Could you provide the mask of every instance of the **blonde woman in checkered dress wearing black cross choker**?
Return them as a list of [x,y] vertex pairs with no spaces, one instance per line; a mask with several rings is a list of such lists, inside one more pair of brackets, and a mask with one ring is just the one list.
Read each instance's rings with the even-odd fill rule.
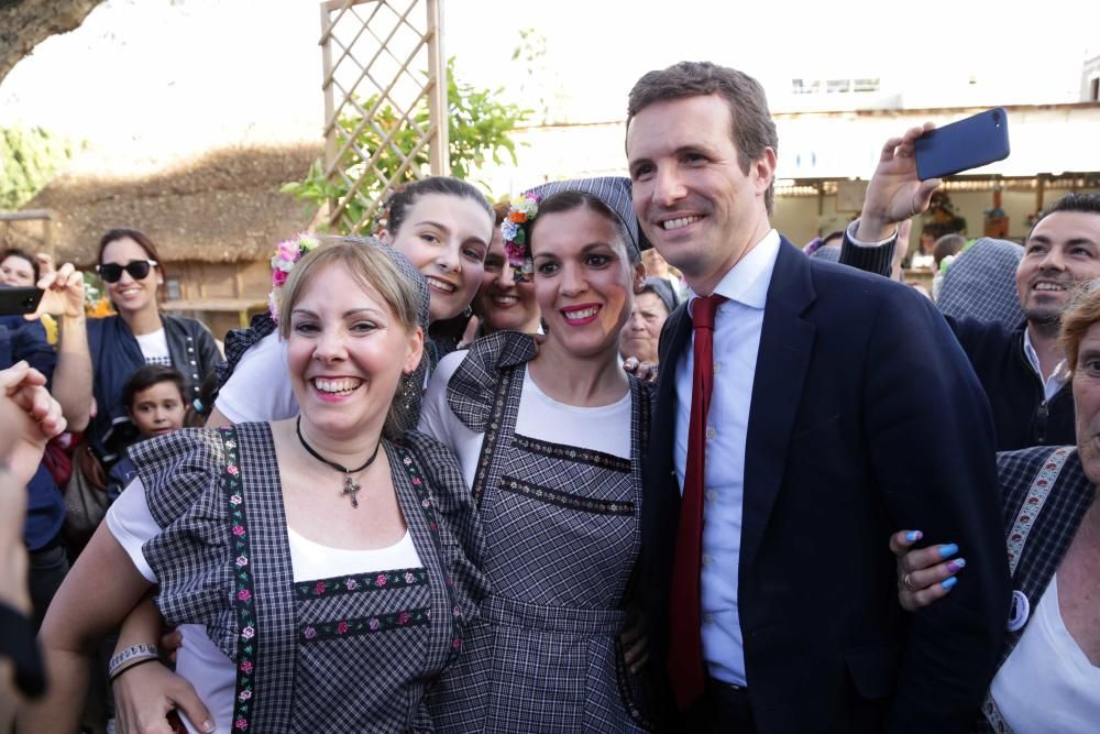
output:
[[[425,688],[486,588],[452,454],[392,419],[427,286],[392,249],[338,241],[301,256],[280,306],[300,415],[131,451],[139,479],[44,623],[52,691],[28,731],[75,728],[81,654],[154,583],[184,635],[177,672],[211,713],[190,731],[431,731]],[[123,657],[116,671],[170,675]]]

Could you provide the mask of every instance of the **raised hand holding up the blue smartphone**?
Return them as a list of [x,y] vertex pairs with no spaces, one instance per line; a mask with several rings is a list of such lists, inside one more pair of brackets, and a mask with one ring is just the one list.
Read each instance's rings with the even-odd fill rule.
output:
[[891,138],[882,146],[879,165],[867,186],[856,239],[880,242],[893,234],[894,224],[927,210],[941,180],[916,177],[914,151],[916,139],[933,128],[933,123],[925,122],[901,138]]

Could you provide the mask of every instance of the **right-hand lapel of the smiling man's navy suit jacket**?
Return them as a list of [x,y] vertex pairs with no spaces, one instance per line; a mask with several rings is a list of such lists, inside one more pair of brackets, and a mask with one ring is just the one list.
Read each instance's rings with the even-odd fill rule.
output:
[[782,240],[765,307],[745,445],[741,568],[750,568],[779,494],[787,451],[813,352],[815,327],[802,318],[816,295],[810,260]]

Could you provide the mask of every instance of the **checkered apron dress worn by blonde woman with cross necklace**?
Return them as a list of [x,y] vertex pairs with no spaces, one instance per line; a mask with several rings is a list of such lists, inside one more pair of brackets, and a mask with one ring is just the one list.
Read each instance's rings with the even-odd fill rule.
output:
[[[160,448],[143,443],[146,453],[135,457],[150,479],[150,506],[165,506],[163,499],[178,489],[173,476],[194,478],[187,443],[195,438],[211,489],[193,502],[197,512],[154,513],[165,532],[145,552],[169,623],[208,623],[211,639],[237,666],[233,731],[432,731],[425,687],[458,656],[460,624],[476,606],[460,598],[469,570],[460,571],[459,584],[452,580],[461,548],[441,532],[446,521],[429,491],[439,472],[424,471],[427,462],[446,462],[446,450],[417,437],[384,443],[424,567],[295,582],[267,424],[185,432],[189,441],[172,441],[173,434]],[[191,566],[196,554],[207,562],[221,557],[219,567]],[[204,587],[200,594],[196,585]]]

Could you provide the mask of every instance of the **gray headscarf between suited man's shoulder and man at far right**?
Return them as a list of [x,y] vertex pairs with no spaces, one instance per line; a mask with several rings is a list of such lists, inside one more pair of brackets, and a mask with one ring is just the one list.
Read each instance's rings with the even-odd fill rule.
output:
[[947,316],[1000,321],[1014,329],[1024,322],[1016,296],[1016,266],[1024,249],[983,237],[947,267],[936,306]]

